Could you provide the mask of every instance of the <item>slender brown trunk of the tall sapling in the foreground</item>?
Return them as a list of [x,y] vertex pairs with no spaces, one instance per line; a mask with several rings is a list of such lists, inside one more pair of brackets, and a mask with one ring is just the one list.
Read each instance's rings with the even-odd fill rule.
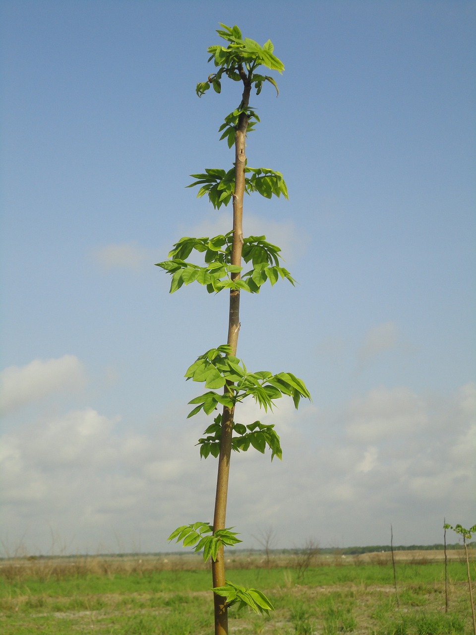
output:
[[[244,90],[241,101],[241,108],[246,110],[249,104],[249,93],[251,91],[250,78],[253,69],[246,75],[242,65],[239,65],[238,72],[244,84]],[[241,266],[241,252],[243,246],[243,197],[245,190],[245,171],[246,154],[245,139],[246,128],[248,128],[248,116],[246,112],[242,112],[237,124],[235,133],[235,192],[233,194],[233,242],[231,264]],[[232,279],[239,278],[240,274],[232,273]],[[240,292],[239,290],[230,290],[230,309],[228,312],[228,340],[230,346],[230,354],[236,355],[238,335],[240,330]],[[233,383],[227,382],[224,388],[225,394],[233,394]],[[235,408],[223,407],[223,415],[221,416],[221,440],[220,440],[220,456],[218,457],[218,475],[216,478],[216,498],[215,498],[215,515],[213,517],[213,533],[219,529],[225,529],[227,516],[227,495],[228,495],[228,476],[230,474],[230,455],[232,452],[232,434],[233,434],[233,418]],[[211,571],[213,576],[213,587],[225,586],[225,559],[223,557],[223,545],[220,545],[216,560],[211,563]],[[214,594],[215,602],[215,635],[228,635],[228,605],[227,599]]]

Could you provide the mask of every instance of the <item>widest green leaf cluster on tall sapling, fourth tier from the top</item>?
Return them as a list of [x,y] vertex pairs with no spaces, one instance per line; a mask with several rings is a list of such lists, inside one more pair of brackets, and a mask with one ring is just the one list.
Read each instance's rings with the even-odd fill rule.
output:
[[[222,289],[244,290],[259,293],[261,286],[270,281],[273,286],[281,277],[291,284],[295,283],[289,271],[281,267],[279,247],[266,241],[266,236],[249,236],[243,239],[242,258],[253,269],[242,272],[242,267],[230,264],[232,253],[232,234],[221,234],[209,238],[182,237],[169,251],[169,260],[157,262],[171,274],[170,293],[183,286],[197,282],[206,286],[208,293],[218,293]],[[195,250],[204,253],[205,266],[187,262],[190,253]],[[238,275],[239,274],[239,275]]]

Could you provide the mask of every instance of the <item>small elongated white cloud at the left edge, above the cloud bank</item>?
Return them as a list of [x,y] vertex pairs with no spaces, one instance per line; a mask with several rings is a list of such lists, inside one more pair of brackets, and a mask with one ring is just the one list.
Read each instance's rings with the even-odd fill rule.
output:
[[75,355],[47,361],[34,359],[22,367],[9,366],[0,373],[0,413],[9,413],[55,392],[79,391],[85,383],[83,364]]

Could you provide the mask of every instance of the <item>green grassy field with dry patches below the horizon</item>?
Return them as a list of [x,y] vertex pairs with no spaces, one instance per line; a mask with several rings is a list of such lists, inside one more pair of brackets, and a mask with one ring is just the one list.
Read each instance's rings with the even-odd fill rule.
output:
[[[366,554],[368,556],[368,554]],[[384,557],[385,556],[385,557]],[[248,558],[248,559],[247,559]],[[251,558],[251,561],[250,559]],[[255,558],[255,561],[253,561]],[[228,577],[264,591],[270,618],[229,612],[230,633],[264,635],[465,635],[472,632],[465,564],[444,566],[399,554],[398,605],[387,554],[336,558],[304,571],[249,568],[237,556]],[[241,561],[240,561],[241,560]],[[459,560],[459,558],[458,558]],[[283,564],[278,561],[277,565]],[[213,632],[209,571],[199,559],[39,559],[0,564],[0,632],[70,635],[205,635]]]

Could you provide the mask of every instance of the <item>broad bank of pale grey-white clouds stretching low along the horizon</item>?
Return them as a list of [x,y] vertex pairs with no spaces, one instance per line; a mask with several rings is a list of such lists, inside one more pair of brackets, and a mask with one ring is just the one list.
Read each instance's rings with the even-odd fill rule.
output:
[[[474,384],[449,398],[376,389],[333,415],[282,399],[260,419],[276,424],[283,460],[232,455],[228,525],[245,546],[260,526],[283,547],[386,544],[390,523],[399,544],[437,542],[442,518],[459,521],[476,491],[475,397]],[[213,514],[216,461],[195,446],[209,419],[186,415],[138,434],[86,408],[4,434],[0,538],[24,534],[47,552],[51,527],[72,551],[115,551],[116,536],[126,550],[168,549],[176,526]],[[256,417],[240,406],[239,422]]]

